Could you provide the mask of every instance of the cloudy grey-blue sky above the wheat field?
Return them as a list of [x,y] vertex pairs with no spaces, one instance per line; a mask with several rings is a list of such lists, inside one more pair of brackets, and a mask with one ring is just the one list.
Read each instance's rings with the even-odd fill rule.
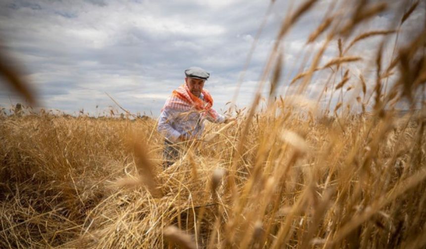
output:
[[[134,114],[158,116],[171,91],[184,83],[184,70],[198,66],[211,73],[205,88],[213,96],[213,108],[223,113],[262,21],[266,25],[236,100],[241,108],[252,102],[283,18],[300,2],[275,0],[268,11],[272,3],[266,0],[2,0],[0,46],[13,58],[11,65],[23,68],[23,75],[47,109],[69,114],[84,109],[101,115],[117,109],[108,93]],[[320,47],[323,36],[311,46],[305,43],[330,2],[320,0],[285,37],[285,74],[279,92],[285,91],[300,69],[302,55]],[[388,2],[398,6],[397,0]],[[347,12],[350,14],[350,8]],[[422,1],[404,24],[403,34],[415,32],[424,23],[424,13]],[[379,14],[362,28],[383,30],[392,17],[387,12]],[[404,42],[404,35],[401,37],[399,42]],[[388,41],[394,39],[387,37]],[[351,48],[351,53],[371,56],[380,41],[368,39]],[[335,43],[327,48],[323,60],[337,52]],[[369,67],[354,64],[351,72]],[[308,91],[318,93],[324,82],[318,75]],[[0,107],[25,101],[1,78],[0,88]]]

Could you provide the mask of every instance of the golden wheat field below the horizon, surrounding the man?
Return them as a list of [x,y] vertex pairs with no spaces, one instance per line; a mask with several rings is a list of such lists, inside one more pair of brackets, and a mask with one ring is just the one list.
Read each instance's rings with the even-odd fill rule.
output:
[[410,115],[258,114],[238,148],[241,116],[166,170],[151,119],[3,117],[0,247],[423,247],[425,119]]

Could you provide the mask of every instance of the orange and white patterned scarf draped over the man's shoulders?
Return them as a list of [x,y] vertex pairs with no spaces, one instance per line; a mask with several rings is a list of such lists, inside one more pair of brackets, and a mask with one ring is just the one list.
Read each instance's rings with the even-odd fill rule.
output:
[[217,113],[212,111],[213,98],[210,93],[203,89],[204,101],[191,93],[186,84],[182,84],[173,90],[171,95],[165,101],[161,112],[166,109],[175,109],[182,112],[190,112],[194,109],[199,111],[203,117],[209,114],[213,119],[217,118]]

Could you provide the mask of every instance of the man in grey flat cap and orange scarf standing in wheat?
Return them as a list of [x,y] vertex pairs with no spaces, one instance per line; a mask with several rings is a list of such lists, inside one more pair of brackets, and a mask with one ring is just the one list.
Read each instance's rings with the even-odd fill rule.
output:
[[235,119],[225,118],[213,108],[213,98],[203,89],[210,73],[199,67],[185,70],[185,84],[175,89],[161,109],[158,131],[165,136],[164,167],[179,157],[178,143],[201,136],[204,120],[228,123]]

